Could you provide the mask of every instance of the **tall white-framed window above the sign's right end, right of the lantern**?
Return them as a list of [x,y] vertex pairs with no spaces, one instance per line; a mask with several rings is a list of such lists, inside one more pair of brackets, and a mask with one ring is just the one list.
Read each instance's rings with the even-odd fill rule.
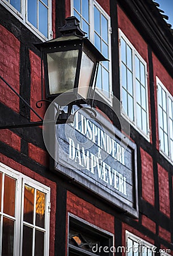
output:
[[120,31],[121,113],[149,140],[146,63]]

